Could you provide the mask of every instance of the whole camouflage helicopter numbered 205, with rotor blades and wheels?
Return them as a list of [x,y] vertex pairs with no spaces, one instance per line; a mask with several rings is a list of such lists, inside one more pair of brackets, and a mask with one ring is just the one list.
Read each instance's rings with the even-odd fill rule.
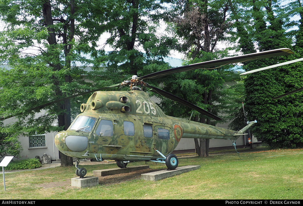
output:
[[[129,162],[151,161],[164,163],[168,170],[174,170],[178,167],[178,158],[171,152],[174,151],[181,138],[235,141],[246,135],[244,132],[257,121],[248,121],[240,131],[233,131],[191,121],[191,117],[189,120],[185,120],[167,116],[151,100],[148,93],[142,90],[143,87],[150,88],[150,91],[186,105],[210,118],[221,120],[218,116],[184,99],[149,85],[143,81],[144,79],[159,78],[192,69],[211,69],[226,64],[291,54],[294,52],[290,49],[281,48],[205,61],[158,71],[142,77],[133,75],[130,80],[122,83],[78,94],[92,93],[87,102],[81,104],[81,113],[70,127],[66,131],[58,132],[55,136],[55,145],[63,154],[78,158],[75,173],[80,178],[84,178],[86,175],[86,169],[79,167],[80,158],[91,158],[92,161],[115,160],[119,168],[125,168]],[[102,91],[118,86],[129,86],[130,90]],[[66,98],[58,101],[64,99]]]

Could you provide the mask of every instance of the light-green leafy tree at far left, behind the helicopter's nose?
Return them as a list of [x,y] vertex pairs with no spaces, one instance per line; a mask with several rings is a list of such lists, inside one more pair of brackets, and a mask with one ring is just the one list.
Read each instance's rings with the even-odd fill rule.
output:
[[[16,117],[5,132],[44,133],[69,127],[72,110],[78,107],[81,97],[49,105],[39,117],[36,113],[41,109],[29,110],[93,86],[81,77],[89,75],[76,67],[77,61],[83,66],[91,62],[80,54],[94,51],[94,42],[99,38],[82,26],[82,16],[90,5],[76,0],[0,2],[0,16],[5,23],[0,35],[0,62],[11,67],[0,71],[0,113]],[[90,20],[85,22],[93,24]],[[51,125],[55,120],[58,127]],[[60,157],[62,166],[73,164],[72,158],[64,154]]]

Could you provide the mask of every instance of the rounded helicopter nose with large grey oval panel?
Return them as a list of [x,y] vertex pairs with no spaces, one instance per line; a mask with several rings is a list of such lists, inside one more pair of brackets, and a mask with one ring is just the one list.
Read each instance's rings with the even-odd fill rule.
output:
[[84,151],[88,145],[88,138],[85,136],[68,135],[66,131],[59,132],[55,136],[55,145],[60,151]]

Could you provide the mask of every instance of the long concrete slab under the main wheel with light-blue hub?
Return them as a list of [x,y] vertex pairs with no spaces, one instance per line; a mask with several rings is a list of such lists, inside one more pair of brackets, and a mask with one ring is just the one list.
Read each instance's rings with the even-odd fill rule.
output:
[[197,165],[197,166],[189,165],[189,166],[178,167],[175,170],[161,170],[161,171],[145,173],[145,174],[141,174],[141,179],[150,180],[150,181],[157,181],[157,180],[161,180],[161,179],[164,179],[164,178],[169,178],[169,177],[172,177],[172,176],[175,176],[175,175],[178,175],[178,174],[182,174],[184,172],[197,170],[200,167],[201,167],[200,165]]

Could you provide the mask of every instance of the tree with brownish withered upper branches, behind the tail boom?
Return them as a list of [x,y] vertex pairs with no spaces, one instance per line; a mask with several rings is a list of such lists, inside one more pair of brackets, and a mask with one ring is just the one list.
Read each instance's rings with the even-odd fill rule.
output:
[[[231,28],[232,19],[228,17],[228,13],[231,10],[232,2],[208,0],[179,2],[180,4],[175,8],[177,15],[172,14],[168,17],[168,21],[174,23],[177,35],[184,42],[180,51],[188,54],[188,59],[191,59],[188,63],[225,57],[226,50],[219,51],[217,45],[220,41],[228,40],[225,34]],[[185,93],[181,93],[182,98],[218,114],[220,112],[218,108],[222,105],[216,105],[216,103],[222,101],[223,84],[228,77],[235,78],[234,74],[226,69],[229,70],[229,67],[225,66],[211,71],[187,72],[186,80],[178,78],[177,81],[187,86],[191,85],[191,89],[194,88],[191,91],[195,91],[196,96],[192,97],[193,94],[185,91]],[[170,85],[166,88],[174,87]],[[210,118],[195,113],[194,121],[198,121],[198,119],[201,123],[215,124],[215,122],[211,122]],[[199,156],[208,156],[208,145],[209,139],[200,139],[200,143],[195,139],[195,148]]]

